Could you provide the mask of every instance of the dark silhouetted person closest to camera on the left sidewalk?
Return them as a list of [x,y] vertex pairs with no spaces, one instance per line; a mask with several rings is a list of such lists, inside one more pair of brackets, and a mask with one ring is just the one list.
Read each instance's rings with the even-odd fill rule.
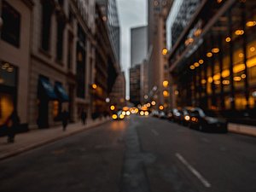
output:
[[15,134],[20,126],[20,118],[16,110],[10,114],[5,124],[7,125],[7,142],[15,143]]

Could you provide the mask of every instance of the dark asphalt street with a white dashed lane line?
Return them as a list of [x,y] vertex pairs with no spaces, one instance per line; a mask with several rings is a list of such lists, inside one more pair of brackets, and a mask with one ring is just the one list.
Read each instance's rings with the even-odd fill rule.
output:
[[0,161],[0,191],[254,192],[255,145],[131,116]]

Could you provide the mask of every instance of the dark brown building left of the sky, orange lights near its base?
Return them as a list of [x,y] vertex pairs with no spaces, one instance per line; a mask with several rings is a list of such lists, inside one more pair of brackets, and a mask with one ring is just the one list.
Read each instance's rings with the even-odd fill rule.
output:
[[113,85],[119,74],[119,62],[115,61],[107,23],[103,20],[102,11],[96,3],[96,61],[93,67],[92,82],[90,86],[91,113],[93,119],[109,113],[106,99],[111,95]]

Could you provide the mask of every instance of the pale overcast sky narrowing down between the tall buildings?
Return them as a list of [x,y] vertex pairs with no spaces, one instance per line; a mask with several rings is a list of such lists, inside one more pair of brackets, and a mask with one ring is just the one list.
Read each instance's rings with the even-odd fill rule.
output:
[[131,28],[147,25],[146,0],[116,0],[121,27],[121,67],[125,71],[126,96],[129,96],[128,70],[131,66]]

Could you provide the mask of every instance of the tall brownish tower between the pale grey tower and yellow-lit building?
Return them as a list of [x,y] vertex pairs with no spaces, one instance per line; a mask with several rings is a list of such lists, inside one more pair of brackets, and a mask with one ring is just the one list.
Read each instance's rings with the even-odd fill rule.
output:
[[168,73],[162,49],[166,48],[166,18],[171,6],[172,0],[148,0],[148,90],[157,88],[156,107],[166,104],[162,83]]

